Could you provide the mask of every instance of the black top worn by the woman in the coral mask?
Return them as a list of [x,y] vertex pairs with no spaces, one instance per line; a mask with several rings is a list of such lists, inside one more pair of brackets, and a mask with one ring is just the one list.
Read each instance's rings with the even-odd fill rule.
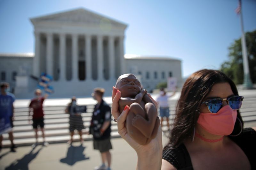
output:
[[[239,136],[228,137],[244,151],[249,159],[251,168],[256,169],[256,131],[252,128],[245,128]],[[168,146],[164,147],[163,159],[170,162],[176,169],[193,169],[188,150],[184,144],[180,144],[180,146],[174,149]]]

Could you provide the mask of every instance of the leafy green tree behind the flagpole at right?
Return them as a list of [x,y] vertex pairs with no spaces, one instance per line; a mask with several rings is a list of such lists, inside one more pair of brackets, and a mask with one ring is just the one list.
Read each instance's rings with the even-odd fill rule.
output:
[[[256,83],[256,30],[245,33],[247,57],[252,83]],[[243,84],[243,56],[241,38],[235,40],[228,48],[228,61],[221,64],[221,71],[230,77],[236,84]]]

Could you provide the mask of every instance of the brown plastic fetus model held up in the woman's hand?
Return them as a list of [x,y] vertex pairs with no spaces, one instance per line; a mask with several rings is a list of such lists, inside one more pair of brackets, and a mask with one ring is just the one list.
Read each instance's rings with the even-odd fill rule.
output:
[[133,74],[123,74],[116,81],[121,91],[120,113],[126,105],[130,111],[126,119],[128,134],[139,144],[146,145],[156,137],[160,124],[157,109],[146,90],[141,90],[140,81]]

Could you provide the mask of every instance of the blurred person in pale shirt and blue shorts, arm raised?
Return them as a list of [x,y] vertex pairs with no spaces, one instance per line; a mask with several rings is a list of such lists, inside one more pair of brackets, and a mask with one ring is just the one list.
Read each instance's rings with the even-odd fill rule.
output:
[[164,91],[164,88],[161,89],[159,96],[156,98],[157,105],[159,107],[160,117],[161,117],[161,126],[163,127],[163,121],[164,118],[167,122],[167,127],[169,129],[169,116],[170,116],[170,110],[169,110],[169,103],[168,99],[175,95],[174,91],[172,95],[167,95]]

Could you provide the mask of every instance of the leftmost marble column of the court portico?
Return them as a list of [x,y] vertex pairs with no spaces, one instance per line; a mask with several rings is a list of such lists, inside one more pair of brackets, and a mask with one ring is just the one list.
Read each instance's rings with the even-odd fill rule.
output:
[[33,58],[33,75],[40,77],[40,46],[41,46],[41,34],[35,32],[35,56]]

